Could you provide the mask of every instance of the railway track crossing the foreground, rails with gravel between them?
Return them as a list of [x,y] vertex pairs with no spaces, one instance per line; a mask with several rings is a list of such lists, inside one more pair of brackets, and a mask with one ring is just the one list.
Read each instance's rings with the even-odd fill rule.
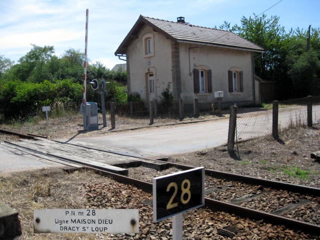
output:
[[[24,136],[20,135],[20,137]],[[37,139],[37,141],[39,141],[38,136],[28,135],[28,138]],[[6,142],[6,144],[32,151],[32,149],[26,145],[21,147],[14,142]],[[63,146],[65,146],[65,143]],[[88,151],[107,151],[105,149],[97,149],[97,147],[93,145],[82,145],[81,147],[86,148]],[[49,152],[43,153],[33,150],[33,153],[52,157],[52,154]],[[137,158],[140,157],[141,159],[147,159],[147,156],[141,156],[136,153],[114,151],[110,151],[109,153],[121,157],[134,156]],[[65,162],[66,165],[75,163],[68,157],[54,157],[61,162]],[[171,172],[192,168],[192,166],[163,162],[154,158],[149,160],[158,161],[159,164],[163,163],[164,166],[159,167],[152,164],[142,165],[140,163],[135,163],[134,167],[132,167],[132,165],[123,163],[121,167],[128,168],[129,176],[130,169],[136,169],[137,167],[139,168],[138,171],[140,172],[140,175],[143,175],[143,170],[148,167],[159,167],[157,169],[158,175],[163,175],[163,173],[159,171],[162,170],[161,168],[169,168]],[[82,165],[78,161],[76,164],[79,165],[77,167]],[[133,184],[146,192],[152,192],[152,178],[140,180],[126,176],[126,174],[123,175],[112,172],[110,169],[107,169],[107,167],[103,168],[92,164],[89,166],[88,164],[83,164],[82,166],[94,169],[102,175],[111,176],[121,183]],[[205,207],[214,211],[234,213],[241,217],[248,217],[255,220],[263,219],[272,224],[285,225],[292,229],[301,229],[307,233],[318,234],[318,232],[320,232],[320,217],[318,210],[320,208],[320,188],[271,181],[210,169],[205,169],[205,174]],[[152,202],[145,201],[144,204],[150,205]],[[228,228],[226,232],[232,231],[232,229],[234,232],[237,230],[234,226],[233,228]]]

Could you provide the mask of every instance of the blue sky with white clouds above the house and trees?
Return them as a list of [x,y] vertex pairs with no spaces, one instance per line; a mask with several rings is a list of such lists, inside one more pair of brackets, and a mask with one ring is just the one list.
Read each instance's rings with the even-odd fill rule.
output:
[[15,62],[31,49],[53,45],[60,56],[69,48],[84,52],[85,10],[89,9],[87,56],[112,68],[114,51],[139,15],[198,26],[240,24],[242,16],[265,11],[279,16],[286,31],[320,27],[320,0],[0,0],[0,55]]

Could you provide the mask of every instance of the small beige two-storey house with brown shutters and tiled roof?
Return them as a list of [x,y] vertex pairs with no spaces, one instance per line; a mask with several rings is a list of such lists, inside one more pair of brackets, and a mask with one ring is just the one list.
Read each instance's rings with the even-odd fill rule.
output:
[[[170,84],[174,100],[197,97],[199,105],[257,103],[254,52],[264,49],[230,32],[140,15],[115,51],[126,57],[128,93],[147,103]],[[146,104],[148,105],[148,104]]]

